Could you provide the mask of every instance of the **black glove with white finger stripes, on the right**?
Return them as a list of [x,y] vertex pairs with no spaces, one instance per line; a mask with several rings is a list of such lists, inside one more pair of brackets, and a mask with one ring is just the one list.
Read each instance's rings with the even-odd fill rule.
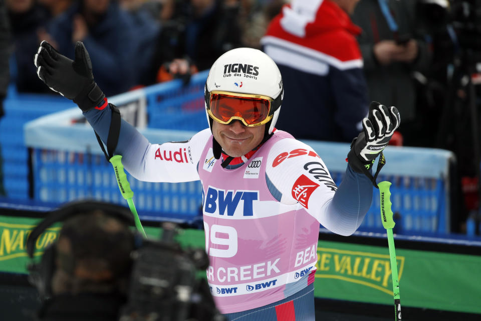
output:
[[[400,122],[401,118],[396,107],[386,107],[377,101],[371,102],[369,114],[362,120],[364,131],[353,139],[351,150],[347,154],[349,165],[355,172],[369,174],[368,177],[372,180],[369,170],[376,157],[389,143]],[[384,159],[380,159],[380,162],[384,165]],[[380,170],[379,167],[378,169]],[[376,186],[375,177],[374,186]]]

